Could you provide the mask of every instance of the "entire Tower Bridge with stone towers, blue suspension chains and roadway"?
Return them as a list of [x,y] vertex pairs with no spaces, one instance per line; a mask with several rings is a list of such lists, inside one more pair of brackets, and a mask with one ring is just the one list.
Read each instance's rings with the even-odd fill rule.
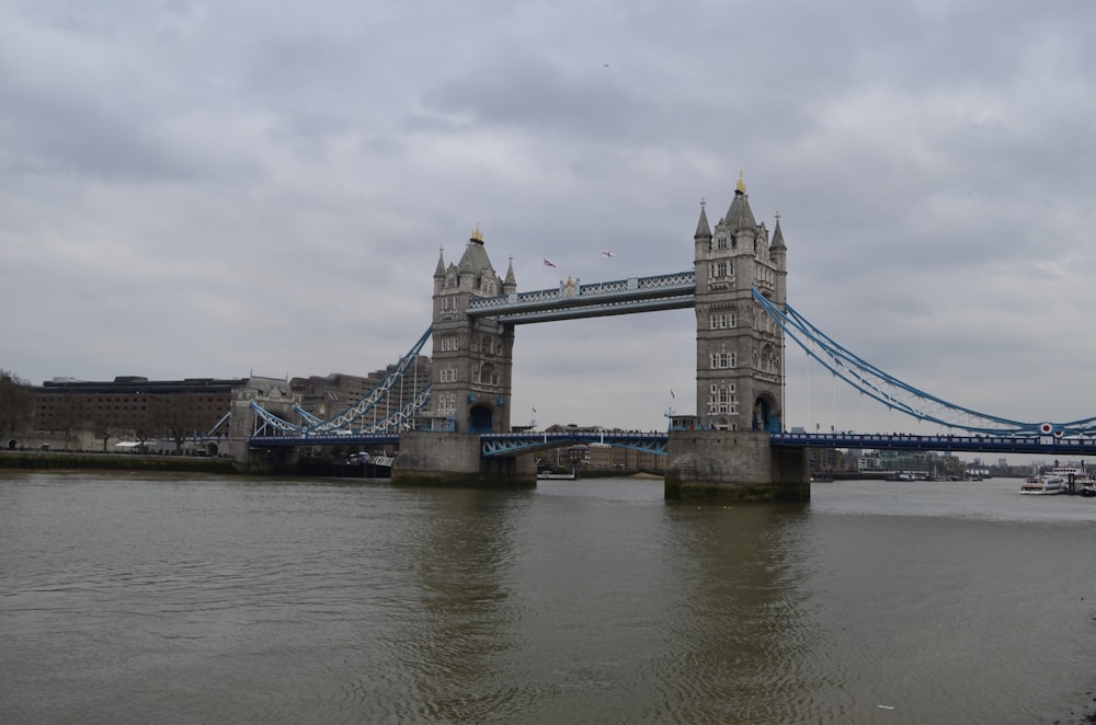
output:
[[[398,440],[396,483],[513,486],[535,485],[537,450],[604,442],[665,454],[667,498],[723,500],[809,498],[809,448],[1096,452],[1096,418],[1032,424],[978,413],[888,376],[813,326],[787,303],[779,215],[772,232],[755,220],[741,175],[715,226],[700,203],[692,242],[690,271],[595,284],[568,278],[558,287],[520,292],[513,260],[500,275],[477,228],[459,261],[446,263],[439,251],[431,326],[369,394],[328,419],[297,408],[299,423],[252,403],[251,446],[270,451]],[[696,318],[694,415],[674,416],[664,434],[512,430],[517,325],[685,308]],[[404,381],[409,360],[427,340],[430,380],[401,395],[395,412],[378,421],[380,402]],[[787,340],[866,396],[956,433],[787,433],[781,421]]]

